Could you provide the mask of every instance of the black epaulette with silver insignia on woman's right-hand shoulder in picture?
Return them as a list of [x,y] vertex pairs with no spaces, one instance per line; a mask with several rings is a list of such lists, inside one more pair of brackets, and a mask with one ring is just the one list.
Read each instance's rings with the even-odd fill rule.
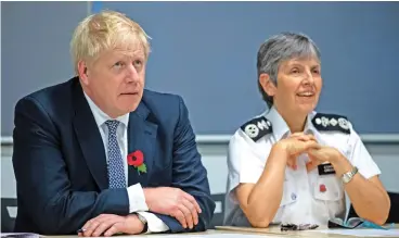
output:
[[342,115],[317,113],[312,123],[318,130],[350,134],[350,123],[347,117]]

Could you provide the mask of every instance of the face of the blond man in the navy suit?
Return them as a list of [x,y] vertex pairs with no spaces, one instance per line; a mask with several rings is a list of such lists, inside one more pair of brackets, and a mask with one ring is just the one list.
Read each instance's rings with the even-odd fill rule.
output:
[[116,48],[86,64],[80,79],[86,93],[111,117],[134,111],[143,96],[146,57],[141,45]]

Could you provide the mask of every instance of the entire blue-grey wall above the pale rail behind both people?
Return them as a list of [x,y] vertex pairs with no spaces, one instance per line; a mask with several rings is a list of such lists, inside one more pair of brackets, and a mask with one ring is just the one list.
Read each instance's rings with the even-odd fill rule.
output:
[[[87,2],[2,3],[2,135],[22,96],[73,75],[68,41]],[[231,134],[265,104],[256,53],[269,36],[304,32],[322,51],[318,110],[362,134],[399,133],[399,2],[93,2],[153,38],[147,88],[183,96],[197,134]],[[29,39],[29,40],[28,40]]]

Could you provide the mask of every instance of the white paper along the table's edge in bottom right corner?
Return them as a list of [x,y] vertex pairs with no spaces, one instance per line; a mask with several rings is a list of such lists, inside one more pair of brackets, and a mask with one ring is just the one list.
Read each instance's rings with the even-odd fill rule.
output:
[[311,231],[356,237],[399,237],[399,229],[316,229]]

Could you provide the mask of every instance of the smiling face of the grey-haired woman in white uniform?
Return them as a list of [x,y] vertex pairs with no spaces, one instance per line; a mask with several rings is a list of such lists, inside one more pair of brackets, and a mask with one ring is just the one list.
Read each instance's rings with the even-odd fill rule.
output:
[[316,58],[292,58],[278,71],[278,84],[269,96],[275,108],[288,114],[304,115],[314,110],[322,88],[320,62]]

